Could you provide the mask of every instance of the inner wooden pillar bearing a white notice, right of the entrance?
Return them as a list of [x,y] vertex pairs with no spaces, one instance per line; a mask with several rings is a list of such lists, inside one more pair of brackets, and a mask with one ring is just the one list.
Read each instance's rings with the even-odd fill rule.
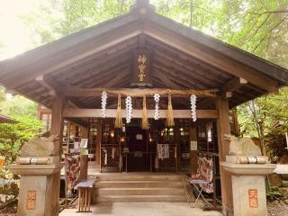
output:
[[197,173],[197,129],[195,126],[190,129],[190,166],[192,173]]

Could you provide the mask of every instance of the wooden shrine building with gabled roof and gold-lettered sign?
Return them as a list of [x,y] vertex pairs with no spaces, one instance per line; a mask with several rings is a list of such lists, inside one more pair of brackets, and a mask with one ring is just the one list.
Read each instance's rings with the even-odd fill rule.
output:
[[[225,161],[229,110],[287,81],[287,69],[175,23],[139,0],[129,14],[0,62],[1,85],[51,110],[50,133],[60,137],[58,155],[67,152],[64,120],[75,122],[89,131],[91,166],[103,172],[196,172],[199,151],[219,153],[220,162]],[[158,120],[155,94],[160,96]],[[196,95],[196,121],[191,94]],[[130,123],[125,120],[127,96]],[[169,102],[174,126],[166,121]],[[114,125],[119,105],[121,129]],[[157,144],[169,144],[170,156],[156,166]],[[126,157],[120,159],[124,150]],[[220,185],[223,212],[228,212],[231,179],[221,167]]]

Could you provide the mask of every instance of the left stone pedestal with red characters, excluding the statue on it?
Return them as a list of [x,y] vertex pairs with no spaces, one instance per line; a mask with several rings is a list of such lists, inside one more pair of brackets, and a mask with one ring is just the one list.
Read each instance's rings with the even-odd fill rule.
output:
[[17,215],[58,215],[60,170],[64,163],[6,166],[21,175]]

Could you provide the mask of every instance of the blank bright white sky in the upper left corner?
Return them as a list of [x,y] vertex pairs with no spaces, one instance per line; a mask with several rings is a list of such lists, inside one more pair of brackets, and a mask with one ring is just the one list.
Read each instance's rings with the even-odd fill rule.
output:
[[32,48],[29,28],[20,16],[46,0],[0,0],[0,60]]

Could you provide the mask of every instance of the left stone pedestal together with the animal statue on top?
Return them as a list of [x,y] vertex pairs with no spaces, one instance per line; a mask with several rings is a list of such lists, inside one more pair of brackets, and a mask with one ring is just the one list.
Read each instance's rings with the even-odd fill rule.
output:
[[6,166],[21,175],[17,215],[58,215],[60,162],[57,137],[35,138],[23,145],[16,164]]

